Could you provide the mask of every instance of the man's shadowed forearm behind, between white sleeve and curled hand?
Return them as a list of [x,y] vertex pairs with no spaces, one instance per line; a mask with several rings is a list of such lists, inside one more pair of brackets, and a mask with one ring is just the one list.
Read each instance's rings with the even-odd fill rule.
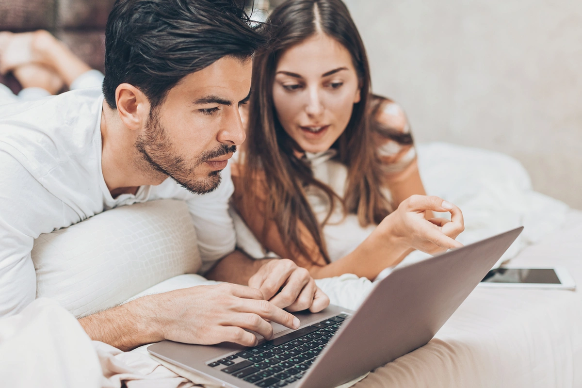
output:
[[247,286],[249,279],[258,269],[268,261],[276,259],[253,259],[239,250],[225,256],[210,271],[206,273],[207,279],[217,282],[243,284]]

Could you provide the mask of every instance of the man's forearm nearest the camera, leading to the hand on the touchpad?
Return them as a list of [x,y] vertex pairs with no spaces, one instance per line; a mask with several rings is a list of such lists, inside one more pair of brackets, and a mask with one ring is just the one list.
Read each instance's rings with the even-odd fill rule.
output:
[[159,333],[154,308],[156,296],[145,296],[111,309],[79,319],[94,341],[101,341],[123,351],[164,340]]

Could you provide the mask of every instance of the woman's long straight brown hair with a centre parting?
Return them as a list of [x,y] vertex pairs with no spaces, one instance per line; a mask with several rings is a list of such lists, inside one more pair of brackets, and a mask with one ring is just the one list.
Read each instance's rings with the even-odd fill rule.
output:
[[[314,179],[308,162],[297,158],[294,151],[303,150],[283,130],[272,97],[279,58],[287,49],[316,33],[315,12],[318,13],[323,33],[340,42],[352,55],[360,82],[361,100],[354,104],[346,130],[332,145],[338,151],[335,159],[348,169],[343,200],[326,184]],[[266,199],[264,208],[261,207],[266,221],[263,241],[267,234],[267,221],[274,220],[289,252],[314,262],[311,259],[314,247],[306,246],[301,239],[298,226],[303,223],[313,236],[317,249],[329,263],[322,225],[307,201],[307,186],[318,187],[329,197],[331,207],[327,219],[336,204],[343,207],[345,214],[355,213],[362,226],[381,222],[392,209],[390,201],[381,191],[381,169],[371,139],[368,59],[356,25],[340,0],[286,1],[272,13],[271,29],[272,47],[254,58],[249,133],[241,163],[244,192],[239,206],[257,208],[258,190],[264,190],[267,195],[262,196]],[[264,184],[257,186],[261,182]],[[261,236],[258,237],[261,239]]]

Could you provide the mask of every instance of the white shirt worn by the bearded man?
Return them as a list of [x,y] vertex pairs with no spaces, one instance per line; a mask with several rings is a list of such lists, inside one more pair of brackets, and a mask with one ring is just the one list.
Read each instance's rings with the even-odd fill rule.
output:
[[230,166],[212,193],[192,194],[168,179],[141,186],[136,195],[111,197],[101,170],[102,103],[100,89],[90,88],[0,106],[0,317],[16,314],[36,296],[34,239],[111,208],[186,201],[202,272],[235,249]]

